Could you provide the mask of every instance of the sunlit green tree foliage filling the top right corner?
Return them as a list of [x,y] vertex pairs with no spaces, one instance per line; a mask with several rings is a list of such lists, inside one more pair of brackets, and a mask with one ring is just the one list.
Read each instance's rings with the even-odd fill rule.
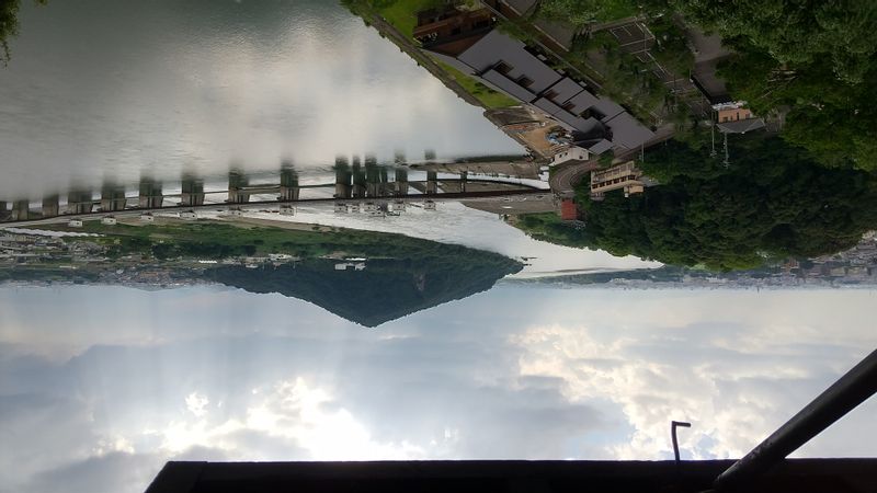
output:
[[784,138],[824,165],[877,170],[877,2],[673,4],[734,48],[719,76],[736,99],[761,115],[788,112]]

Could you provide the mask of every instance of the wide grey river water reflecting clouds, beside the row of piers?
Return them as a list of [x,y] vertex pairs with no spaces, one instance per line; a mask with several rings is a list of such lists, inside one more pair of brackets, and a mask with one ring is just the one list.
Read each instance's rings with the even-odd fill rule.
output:
[[334,2],[32,3],[0,70],[5,199],[337,154],[523,151]]

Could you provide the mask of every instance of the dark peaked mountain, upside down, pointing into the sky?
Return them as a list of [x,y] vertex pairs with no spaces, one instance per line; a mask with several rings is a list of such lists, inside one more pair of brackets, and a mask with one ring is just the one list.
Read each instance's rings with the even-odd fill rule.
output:
[[361,325],[377,326],[488,290],[523,267],[497,253],[436,244],[440,248],[426,255],[368,260],[361,271],[337,270],[343,261],[311,259],[259,268],[223,266],[205,276],[251,293],[303,299]]

